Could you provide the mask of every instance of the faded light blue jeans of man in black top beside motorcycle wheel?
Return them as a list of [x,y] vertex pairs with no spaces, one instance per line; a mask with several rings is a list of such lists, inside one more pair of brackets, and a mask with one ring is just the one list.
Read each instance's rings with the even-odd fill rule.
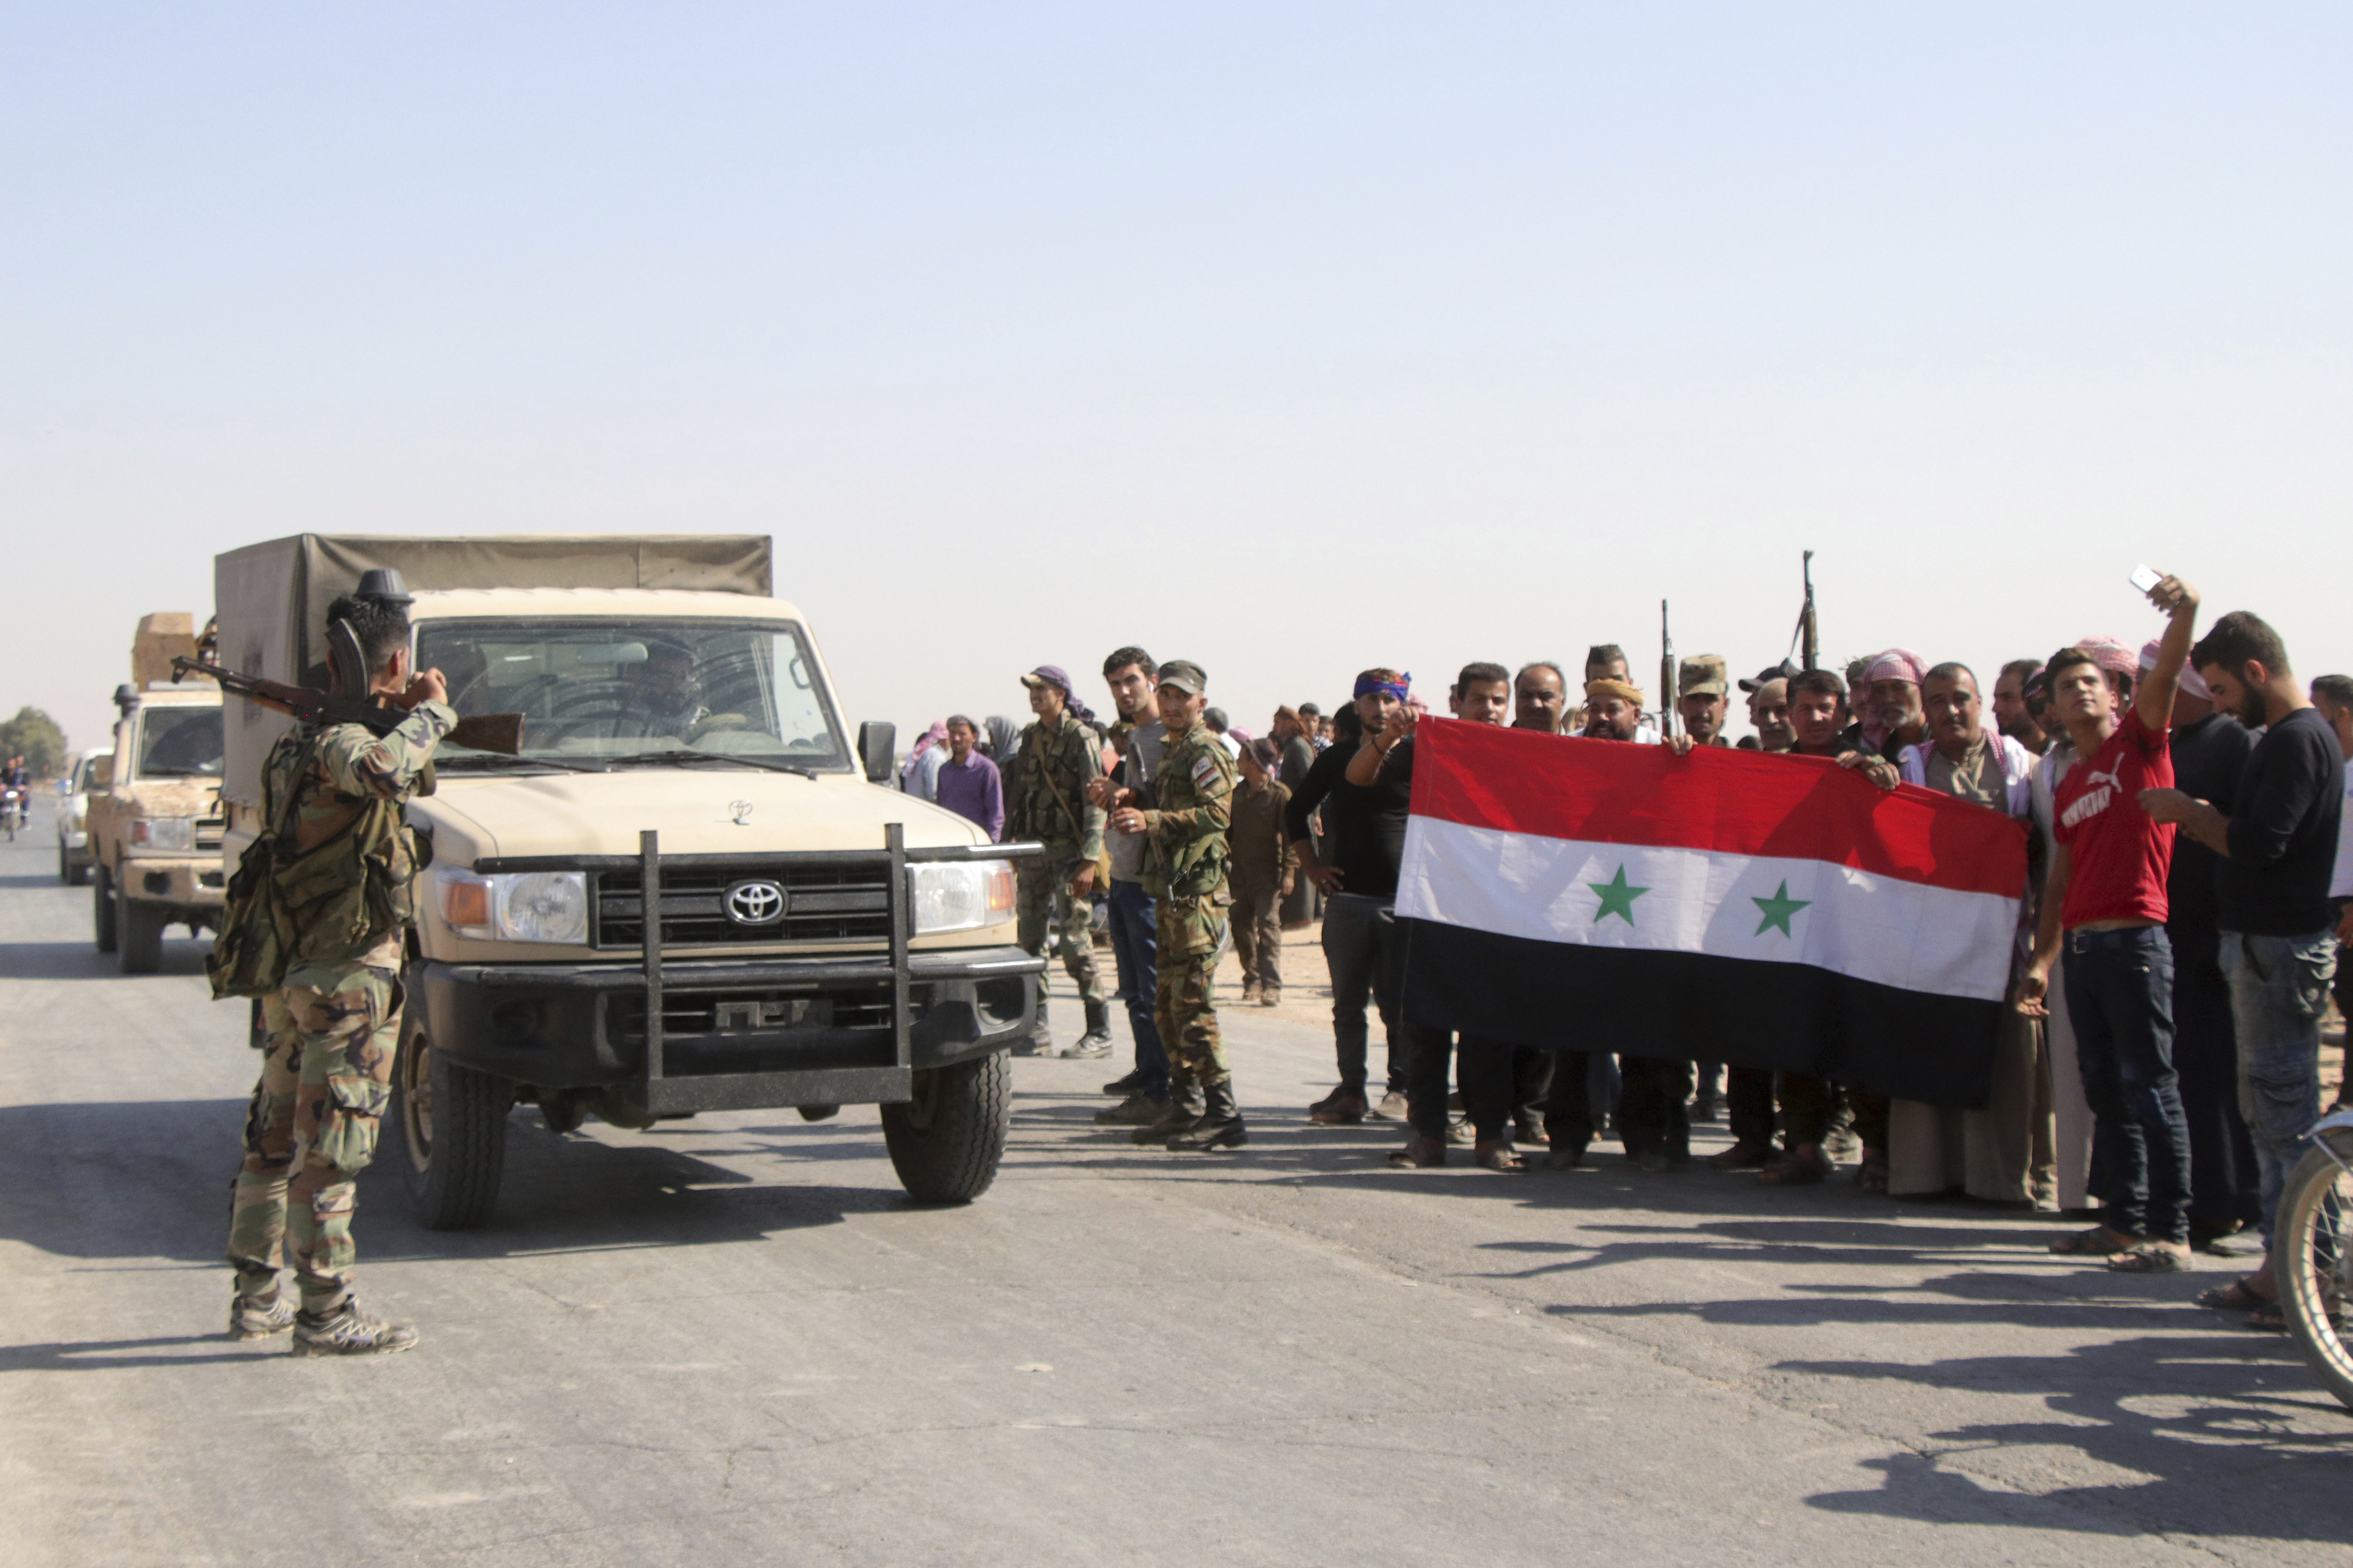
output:
[[[2221,973],[2238,1025],[2238,1110],[2254,1135],[2264,1244],[2280,1187],[2320,1119],[2320,1013],[2337,973],[2332,931],[2308,936],[2221,933]],[[2073,999],[2073,997],[2071,997]]]

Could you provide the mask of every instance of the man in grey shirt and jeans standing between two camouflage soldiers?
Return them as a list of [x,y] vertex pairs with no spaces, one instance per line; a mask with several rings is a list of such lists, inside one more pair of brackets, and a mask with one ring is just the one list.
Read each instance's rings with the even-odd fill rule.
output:
[[[1104,682],[1111,684],[1111,705],[1118,722],[1111,726],[1111,743],[1120,750],[1120,766],[1096,780],[1108,802],[1115,790],[1134,790],[1136,804],[1148,806],[1153,797],[1153,773],[1160,771],[1160,755],[1167,750],[1167,731],[1160,726],[1153,705],[1153,675],[1160,665],[1144,649],[1118,649],[1104,661]],[[1146,837],[1141,832],[1113,832],[1104,842],[1111,851],[1111,957],[1120,966],[1120,997],[1127,999],[1127,1030],[1136,1037],[1136,1067],[1127,1077],[1104,1084],[1106,1095],[1122,1095],[1118,1105],[1094,1112],[1096,1121],[1122,1126],[1148,1126],[1169,1107],[1169,1056],[1153,1025],[1153,999],[1160,990],[1158,964],[1158,917],[1153,896],[1144,891]]]

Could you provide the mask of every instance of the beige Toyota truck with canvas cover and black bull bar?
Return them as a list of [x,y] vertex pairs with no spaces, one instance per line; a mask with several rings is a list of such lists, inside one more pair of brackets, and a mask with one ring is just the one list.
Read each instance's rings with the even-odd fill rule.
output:
[[[892,731],[852,745],[767,538],[280,538],[216,559],[221,663],[325,689],[327,607],[374,567],[461,717],[525,715],[513,757],[445,741],[409,804],[431,865],[386,1159],[419,1218],[489,1215],[513,1105],[569,1133],[871,1103],[913,1197],[976,1197],[1038,1006],[1024,846],[878,788]],[[289,722],[231,712],[233,853]]]

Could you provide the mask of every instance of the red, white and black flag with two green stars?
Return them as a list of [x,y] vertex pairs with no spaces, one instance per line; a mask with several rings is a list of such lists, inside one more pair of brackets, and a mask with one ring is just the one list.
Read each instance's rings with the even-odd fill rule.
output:
[[1824,757],[1424,719],[1405,1013],[1984,1105],[2026,832]]

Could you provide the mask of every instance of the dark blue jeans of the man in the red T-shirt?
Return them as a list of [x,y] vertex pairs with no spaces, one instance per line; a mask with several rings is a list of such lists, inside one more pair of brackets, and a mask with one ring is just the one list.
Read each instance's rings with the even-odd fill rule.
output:
[[2066,933],[2066,1011],[2092,1105],[2092,1197],[2108,1229],[2191,1239],[2191,1124],[2174,1074],[2165,926]]

